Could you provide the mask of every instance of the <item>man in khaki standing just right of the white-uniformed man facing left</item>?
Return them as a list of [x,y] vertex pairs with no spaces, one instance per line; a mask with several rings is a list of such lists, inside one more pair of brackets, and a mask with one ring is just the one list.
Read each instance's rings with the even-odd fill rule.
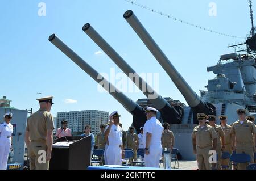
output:
[[174,133],[170,131],[170,124],[169,123],[164,123],[163,124],[164,131],[162,132],[162,147],[163,150],[167,148],[168,151],[171,151],[172,148],[174,148]]

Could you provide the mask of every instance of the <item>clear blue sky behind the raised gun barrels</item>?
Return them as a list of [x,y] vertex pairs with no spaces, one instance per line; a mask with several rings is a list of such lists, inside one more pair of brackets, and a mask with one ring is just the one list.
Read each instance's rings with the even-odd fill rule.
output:
[[[135,2],[229,35],[246,37],[251,29],[247,1]],[[55,33],[90,66],[109,75],[111,82],[118,85],[120,77],[111,78],[110,73],[114,70],[117,75],[122,73],[121,69],[82,31],[82,26],[90,23],[137,73],[158,74],[159,79],[154,78],[160,95],[185,104],[123,13],[133,10],[198,95],[199,90],[206,90],[208,79],[216,76],[207,73],[207,66],[216,65],[221,54],[233,53],[233,48],[227,48],[229,43],[243,41],[188,26],[125,0],[1,0],[0,3],[0,96],[7,96],[15,108],[36,111],[39,108],[36,99],[53,95],[53,116],[65,111],[119,111],[125,129],[132,123],[131,114],[107,92],[99,91],[98,84],[88,74],[48,41],[49,35]],[[216,11],[212,11],[212,3]],[[253,10],[256,12],[254,1]],[[146,98],[139,91],[123,93],[134,101]]]

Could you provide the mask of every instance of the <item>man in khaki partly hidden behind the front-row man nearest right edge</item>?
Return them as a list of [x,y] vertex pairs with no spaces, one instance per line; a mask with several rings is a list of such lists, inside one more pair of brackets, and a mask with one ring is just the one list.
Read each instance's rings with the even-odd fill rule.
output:
[[[221,128],[223,129],[224,133],[225,133],[225,145],[223,148],[223,152],[228,152],[230,155],[232,154],[232,136],[231,136],[231,126],[226,124],[228,117],[226,115],[220,115],[218,116],[218,118],[221,121]],[[222,145],[223,146],[223,145]],[[225,160],[222,161],[222,165],[224,165]],[[228,163],[225,165],[229,165],[229,159],[228,159]]]

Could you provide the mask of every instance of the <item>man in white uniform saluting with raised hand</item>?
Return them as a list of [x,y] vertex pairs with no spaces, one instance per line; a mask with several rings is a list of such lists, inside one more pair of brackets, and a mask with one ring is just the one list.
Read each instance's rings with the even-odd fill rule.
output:
[[[122,128],[119,124],[117,111],[110,114],[110,123],[106,126],[105,136],[108,137],[108,146],[106,146],[105,158],[108,165],[122,165],[122,154],[124,154],[122,145]],[[112,120],[113,119],[113,120]]]

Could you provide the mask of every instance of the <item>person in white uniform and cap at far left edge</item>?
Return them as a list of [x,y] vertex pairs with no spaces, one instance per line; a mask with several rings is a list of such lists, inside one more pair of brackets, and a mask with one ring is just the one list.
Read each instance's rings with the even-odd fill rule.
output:
[[5,121],[0,124],[0,170],[7,169],[8,155],[11,148],[11,134],[13,134],[13,125],[10,123],[13,114],[9,112],[3,117]]

